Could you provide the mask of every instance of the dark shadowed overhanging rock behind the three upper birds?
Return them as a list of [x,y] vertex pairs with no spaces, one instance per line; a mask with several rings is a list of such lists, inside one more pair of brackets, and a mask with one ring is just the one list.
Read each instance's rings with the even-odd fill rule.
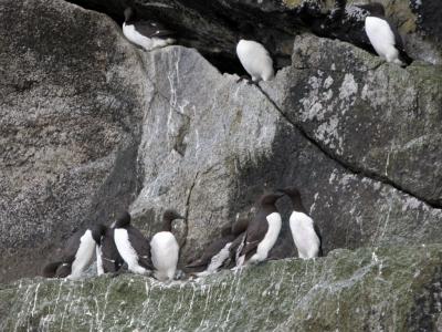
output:
[[[334,9],[345,7],[345,0],[70,1],[104,12],[118,23],[124,20],[124,9],[134,6],[140,17],[162,20],[176,30],[179,44],[197,48],[229,73],[242,72],[234,54],[240,32],[264,43],[278,68],[288,63],[293,37],[305,31],[372,50],[364,32],[367,12],[354,6],[369,3],[368,0],[348,1],[343,14],[336,14]],[[406,37],[407,51],[413,59],[442,64],[440,0],[378,1]]]

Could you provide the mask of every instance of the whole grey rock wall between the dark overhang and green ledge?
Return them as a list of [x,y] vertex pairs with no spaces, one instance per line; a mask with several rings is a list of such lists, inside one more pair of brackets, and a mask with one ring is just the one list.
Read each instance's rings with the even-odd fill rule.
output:
[[[440,241],[440,68],[304,34],[293,64],[254,86],[193,49],[143,52],[76,6],[7,4],[3,281],[35,276],[75,229],[127,207],[147,236],[166,208],[185,214],[186,262],[264,190],[293,184],[325,252]],[[287,220],[290,203],[278,208]],[[294,256],[292,242],[284,222],[271,257]]]

